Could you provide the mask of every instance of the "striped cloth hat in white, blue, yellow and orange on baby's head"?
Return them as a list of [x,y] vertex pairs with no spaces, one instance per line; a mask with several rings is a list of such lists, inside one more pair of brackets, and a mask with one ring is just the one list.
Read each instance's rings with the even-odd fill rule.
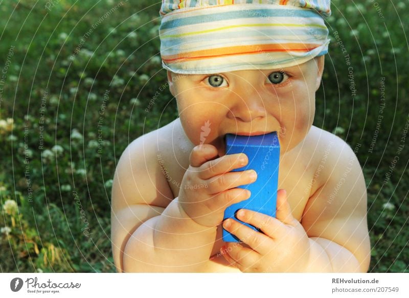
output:
[[328,52],[330,0],[163,0],[165,69],[179,74],[279,69]]

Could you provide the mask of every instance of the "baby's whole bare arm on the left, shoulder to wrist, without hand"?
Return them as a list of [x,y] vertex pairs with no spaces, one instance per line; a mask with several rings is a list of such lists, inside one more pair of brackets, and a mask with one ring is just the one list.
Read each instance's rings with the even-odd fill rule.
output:
[[156,156],[157,137],[131,143],[112,188],[112,250],[118,271],[200,272],[209,262],[216,227],[184,214]]

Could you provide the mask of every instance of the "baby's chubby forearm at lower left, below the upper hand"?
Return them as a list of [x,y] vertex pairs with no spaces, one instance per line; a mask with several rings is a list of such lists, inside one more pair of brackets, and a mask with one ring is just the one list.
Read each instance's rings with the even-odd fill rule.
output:
[[128,242],[125,251],[124,269],[199,272],[209,262],[216,229],[201,226],[189,218],[175,198],[154,222],[141,225],[133,233],[129,239],[133,243]]

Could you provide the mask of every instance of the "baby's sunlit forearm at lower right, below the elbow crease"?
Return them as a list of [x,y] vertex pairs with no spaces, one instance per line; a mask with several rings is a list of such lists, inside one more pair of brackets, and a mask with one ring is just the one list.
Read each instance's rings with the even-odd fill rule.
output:
[[311,237],[306,272],[366,272],[354,254],[328,239]]

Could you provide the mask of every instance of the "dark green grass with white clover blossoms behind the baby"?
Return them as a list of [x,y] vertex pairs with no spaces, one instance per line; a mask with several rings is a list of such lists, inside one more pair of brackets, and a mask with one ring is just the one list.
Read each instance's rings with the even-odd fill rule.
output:
[[[115,271],[116,162],[177,117],[162,91],[159,9],[147,0],[0,4],[0,271]],[[408,9],[332,1],[316,95],[314,124],[354,148],[366,177],[371,272],[408,271]]]

